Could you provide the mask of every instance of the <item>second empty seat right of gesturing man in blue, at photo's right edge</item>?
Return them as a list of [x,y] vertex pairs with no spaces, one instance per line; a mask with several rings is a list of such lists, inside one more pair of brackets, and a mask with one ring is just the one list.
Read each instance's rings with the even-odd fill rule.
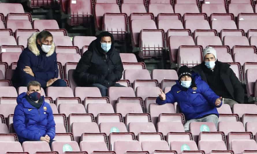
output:
[[257,106],[255,104],[234,104],[233,112],[241,118],[243,114],[257,114]]

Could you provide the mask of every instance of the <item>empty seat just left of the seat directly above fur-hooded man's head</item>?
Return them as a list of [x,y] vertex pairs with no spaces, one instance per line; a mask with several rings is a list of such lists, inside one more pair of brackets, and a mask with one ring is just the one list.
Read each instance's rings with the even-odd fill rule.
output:
[[16,29],[32,29],[31,22],[29,20],[7,20],[6,28],[12,29],[13,32]]

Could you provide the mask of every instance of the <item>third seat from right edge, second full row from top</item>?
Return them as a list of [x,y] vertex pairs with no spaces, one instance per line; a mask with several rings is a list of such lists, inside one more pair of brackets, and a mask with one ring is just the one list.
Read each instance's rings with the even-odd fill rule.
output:
[[190,29],[192,32],[194,32],[195,29],[211,29],[208,22],[208,16],[205,13],[186,13],[184,14],[183,19],[185,28]]

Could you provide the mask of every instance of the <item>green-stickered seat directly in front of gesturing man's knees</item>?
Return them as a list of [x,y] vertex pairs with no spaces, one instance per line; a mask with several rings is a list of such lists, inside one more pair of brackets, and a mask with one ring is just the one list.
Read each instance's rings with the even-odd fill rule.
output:
[[212,122],[191,122],[189,123],[189,131],[192,132],[195,142],[198,141],[200,132],[216,132],[216,126]]

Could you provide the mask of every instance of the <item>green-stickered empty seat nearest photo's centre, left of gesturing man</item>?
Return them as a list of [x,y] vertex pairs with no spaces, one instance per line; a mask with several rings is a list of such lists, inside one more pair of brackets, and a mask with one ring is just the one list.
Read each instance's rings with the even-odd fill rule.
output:
[[107,136],[112,132],[128,132],[124,123],[100,123],[100,132],[105,133]]

